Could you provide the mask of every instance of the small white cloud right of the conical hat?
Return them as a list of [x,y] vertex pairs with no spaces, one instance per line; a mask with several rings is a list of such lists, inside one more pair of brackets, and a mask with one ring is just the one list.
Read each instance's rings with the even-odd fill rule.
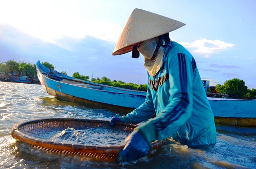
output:
[[209,40],[200,38],[194,42],[180,42],[185,48],[195,49],[193,52],[199,54],[205,54],[206,58],[209,57],[210,54],[219,53],[222,50],[226,50],[228,48],[234,47],[232,43],[226,43],[221,40]]

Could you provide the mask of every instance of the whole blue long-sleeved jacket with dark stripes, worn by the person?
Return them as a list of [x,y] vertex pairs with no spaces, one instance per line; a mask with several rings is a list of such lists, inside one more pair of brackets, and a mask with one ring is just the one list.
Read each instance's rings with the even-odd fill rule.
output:
[[132,124],[147,120],[138,129],[149,143],[169,136],[189,146],[216,142],[213,113],[195,60],[173,41],[161,69],[148,75],[145,102],[120,120]]

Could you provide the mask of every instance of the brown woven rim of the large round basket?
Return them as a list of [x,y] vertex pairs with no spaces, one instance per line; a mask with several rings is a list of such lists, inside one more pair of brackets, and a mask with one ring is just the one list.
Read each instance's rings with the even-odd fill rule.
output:
[[[90,121],[90,122],[101,122],[107,123],[110,125],[108,120],[96,120],[96,119],[84,119],[84,118],[41,118],[41,119],[33,119],[30,121],[21,121],[15,124],[11,129],[11,135],[15,139],[27,143],[31,146],[34,146],[39,149],[44,149],[46,151],[65,153],[65,154],[79,154],[83,156],[90,157],[92,159],[96,159],[98,161],[107,160],[107,161],[115,161],[115,157],[117,154],[122,151],[125,145],[106,145],[106,146],[91,146],[86,144],[69,144],[69,143],[61,143],[61,142],[52,142],[49,140],[39,139],[28,134],[22,133],[19,128],[33,124],[36,122],[45,122],[45,121]],[[139,125],[115,122],[115,126],[121,125],[130,128],[136,128]],[[110,125],[111,127],[111,125]],[[151,149],[157,149],[158,147],[163,146],[166,143],[166,140],[155,141],[152,142]]]

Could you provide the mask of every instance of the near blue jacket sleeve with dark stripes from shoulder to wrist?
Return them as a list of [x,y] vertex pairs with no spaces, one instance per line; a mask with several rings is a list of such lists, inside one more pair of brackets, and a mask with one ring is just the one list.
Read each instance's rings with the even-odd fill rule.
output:
[[171,136],[192,114],[193,67],[190,57],[170,52],[167,56],[169,99],[164,110],[138,127],[149,143]]

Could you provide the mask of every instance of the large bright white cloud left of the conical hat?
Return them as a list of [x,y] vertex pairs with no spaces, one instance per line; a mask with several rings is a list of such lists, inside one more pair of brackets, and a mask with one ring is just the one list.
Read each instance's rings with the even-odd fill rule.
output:
[[73,1],[3,1],[0,24],[12,25],[48,42],[63,36],[84,38],[86,35],[117,41],[122,26],[85,19],[77,8]]

